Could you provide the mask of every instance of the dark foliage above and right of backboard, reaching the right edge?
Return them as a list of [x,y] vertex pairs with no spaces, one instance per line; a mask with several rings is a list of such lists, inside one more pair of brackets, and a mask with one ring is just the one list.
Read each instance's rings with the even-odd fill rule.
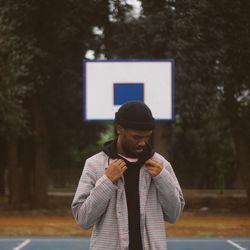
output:
[[249,141],[249,3],[141,3],[138,19],[109,26],[107,53],[175,59],[177,122],[170,141],[177,174],[185,187],[229,187],[238,174],[232,130]]

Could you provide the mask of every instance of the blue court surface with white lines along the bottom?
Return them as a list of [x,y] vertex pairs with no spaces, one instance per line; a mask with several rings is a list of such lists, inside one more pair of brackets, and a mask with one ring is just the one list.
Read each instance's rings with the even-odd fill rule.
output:
[[[0,250],[87,250],[89,238],[0,237]],[[168,250],[250,250],[250,238],[169,238]]]

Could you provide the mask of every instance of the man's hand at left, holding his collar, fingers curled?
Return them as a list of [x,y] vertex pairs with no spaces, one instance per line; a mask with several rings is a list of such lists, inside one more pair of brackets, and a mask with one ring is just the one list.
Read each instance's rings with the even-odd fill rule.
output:
[[108,166],[105,175],[115,183],[122,174],[126,171],[126,163],[122,159],[115,159],[112,163]]

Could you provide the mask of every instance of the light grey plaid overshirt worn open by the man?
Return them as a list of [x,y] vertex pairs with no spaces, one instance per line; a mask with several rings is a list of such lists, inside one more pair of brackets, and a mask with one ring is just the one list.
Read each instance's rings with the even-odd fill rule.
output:
[[[163,170],[151,177],[146,166],[140,170],[140,222],[144,250],[165,250],[165,223],[174,223],[184,207],[184,198],[170,163],[160,154],[152,159],[163,163]],[[86,160],[72,212],[84,229],[93,226],[90,249],[129,249],[128,213],[124,179],[114,185],[104,174],[110,159],[100,152]]]

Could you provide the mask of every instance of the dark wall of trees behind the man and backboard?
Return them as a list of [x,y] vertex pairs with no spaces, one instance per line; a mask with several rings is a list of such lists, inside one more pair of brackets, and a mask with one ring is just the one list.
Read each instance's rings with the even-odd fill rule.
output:
[[[153,145],[184,189],[245,189],[250,209],[250,2],[0,0],[0,192],[46,208],[112,135],[82,122],[82,60],[175,59],[175,121]],[[99,32],[97,32],[99,31]],[[98,100],[96,100],[98,101]]]

